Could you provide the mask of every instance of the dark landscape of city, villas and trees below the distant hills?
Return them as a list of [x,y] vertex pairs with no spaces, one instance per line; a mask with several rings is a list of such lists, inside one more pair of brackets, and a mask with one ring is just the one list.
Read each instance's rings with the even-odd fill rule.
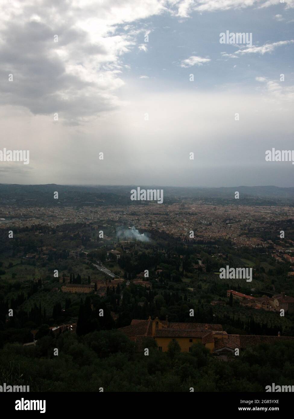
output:
[[[13,194],[15,186],[10,189]],[[227,204],[226,199],[215,205],[207,200],[187,197],[172,204],[117,207],[94,207],[91,202],[68,202],[65,207],[61,199],[54,207],[2,205],[0,356],[13,359],[18,354],[21,365],[34,354],[34,367],[29,375],[22,371],[19,384],[34,391],[46,391],[48,385],[52,391],[64,391],[60,386],[79,391],[82,385],[87,391],[83,375],[75,384],[70,380],[53,385],[55,378],[48,375],[43,382],[36,360],[55,362],[57,350],[60,368],[68,356],[86,368],[90,353],[97,365],[108,362],[110,354],[117,362],[123,356],[136,364],[148,350],[150,361],[140,368],[151,371],[155,359],[167,362],[164,353],[172,362],[173,372],[171,365],[161,367],[165,391],[195,387],[201,368],[189,369],[182,378],[174,370],[185,362],[200,362],[210,370],[212,382],[195,391],[221,391],[224,378],[213,378],[221,361],[234,375],[235,390],[250,391],[252,383],[247,388],[246,376],[237,374],[239,362],[253,362],[253,367],[250,348],[291,352],[293,206]],[[252,279],[221,279],[226,267],[252,269]],[[19,352],[19,345],[25,352]],[[263,362],[277,360],[266,356]],[[31,368],[36,370],[34,378]],[[119,370],[125,383],[123,364]],[[169,374],[174,374],[172,382]],[[288,372],[276,374],[281,381]],[[91,381],[92,389],[118,391],[119,376],[110,381],[100,376],[96,384]],[[142,385],[138,376],[126,391],[158,391],[154,385]],[[263,391],[263,385],[262,375],[256,377],[255,391]]]

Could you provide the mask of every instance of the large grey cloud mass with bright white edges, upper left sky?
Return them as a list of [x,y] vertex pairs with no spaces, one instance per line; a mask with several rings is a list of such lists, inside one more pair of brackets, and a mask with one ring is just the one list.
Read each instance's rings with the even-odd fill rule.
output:
[[122,57],[138,36],[130,23],[162,13],[164,3],[7,2],[0,10],[0,105],[23,106],[52,119],[58,113],[72,125],[116,109],[122,103]]

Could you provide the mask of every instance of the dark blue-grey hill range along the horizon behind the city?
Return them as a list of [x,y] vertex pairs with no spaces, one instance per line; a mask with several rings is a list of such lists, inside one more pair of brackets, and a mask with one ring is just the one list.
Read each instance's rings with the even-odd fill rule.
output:
[[[147,204],[131,202],[130,190],[135,186],[92,186],[92,185],[18,185],[0,184],[0,204],[21,206],[100,206]],[[182,202],[182,200],[204,200],[211,203],[235,204],[293,204],[294,188],[278,186],[234,186],[221,188],[172,187],[140,185],[141,189],[163,189],[164,203]],[[53,199],[54,192],[59,199]],[[234,199],[238,191],[240,199]]]

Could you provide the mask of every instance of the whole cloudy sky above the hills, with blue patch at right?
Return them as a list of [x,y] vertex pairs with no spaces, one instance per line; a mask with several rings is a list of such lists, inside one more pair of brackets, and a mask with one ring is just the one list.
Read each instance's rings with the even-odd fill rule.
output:
[[293,62],[294,0],[1,2],[0,183],[294,186]]

